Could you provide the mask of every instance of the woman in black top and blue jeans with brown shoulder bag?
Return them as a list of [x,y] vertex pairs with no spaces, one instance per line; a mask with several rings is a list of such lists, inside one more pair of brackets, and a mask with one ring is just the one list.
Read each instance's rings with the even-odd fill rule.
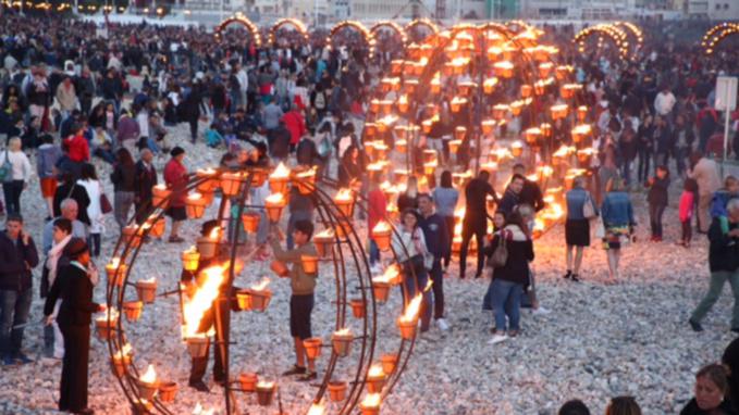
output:
[[488,344],[496,344],[518,336],[521,294],[524,285],[529,279],[529,262],[533,261],[533,242],[526,222],[518,212],[508,215],[503,230],[493,237],[491,248],[494,275],[491,300],[495,313],[495,329]]

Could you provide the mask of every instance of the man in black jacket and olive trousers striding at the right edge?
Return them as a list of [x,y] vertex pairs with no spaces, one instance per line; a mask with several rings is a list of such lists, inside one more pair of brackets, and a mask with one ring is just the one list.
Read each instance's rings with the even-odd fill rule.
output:
[[720,218],[714,217],[709,228],[709,268],[711,281],[709,292],[693,311],[688,323],[694,331],[703,331],[701,320],[718,301],[724,284],[731,286],[734,293],[734,311],[731,313],[731,331],[739,332],[739,199],[732,199],[726,206],[728,212],[728,231],[722,229]]

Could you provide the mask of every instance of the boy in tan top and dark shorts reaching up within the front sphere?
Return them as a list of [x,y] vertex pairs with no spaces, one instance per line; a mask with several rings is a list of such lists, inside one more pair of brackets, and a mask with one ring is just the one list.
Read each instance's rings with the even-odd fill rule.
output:
[[306,349],[303,341],[312,337],[310,329],[310,313],[313,310],[313,291],[318,267],[312,273],[306,272],[303,256],[318,256],[316,246],[310,241],[313,235],[313,224],[310,221],[296,221],[293,226],[293,242],[295,249],[283,250],[280,246],[280,230],[276,226],[271,228],[270,244],[274,252],[274,260],[284,265],[292,264],[290,272],[283,277],[290,277],[292,295],[290,298],[290,332],[295,342],[295,365],[283,373],[283,376],[303,375],[300,381],[310,381],[318,378],[316,363],[308,360],[306,369]]

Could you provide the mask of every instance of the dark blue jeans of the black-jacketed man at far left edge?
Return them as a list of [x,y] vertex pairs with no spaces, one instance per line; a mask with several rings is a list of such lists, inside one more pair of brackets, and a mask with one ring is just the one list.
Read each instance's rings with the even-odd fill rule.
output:
[[0,290],[0,354],[17,356],[23,345],[23,329],[30,312],[33,290]]

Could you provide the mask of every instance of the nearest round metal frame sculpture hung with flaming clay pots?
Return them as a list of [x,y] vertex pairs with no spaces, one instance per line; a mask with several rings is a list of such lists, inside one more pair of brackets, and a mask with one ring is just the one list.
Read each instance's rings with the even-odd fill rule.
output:
[[[266,192],[268,187],[271,194],[258,200],[255,191]],[[325,373],[316,385],[313,398],[306,403],[306,412],[348,414],[359,406],[365,413],[379,413],[381,403],[399,380],[412,353],[423,293],[411,298],[402,282],[412,276],[404,275],[397,263],[387,266],[381,275],[371,274],[364,235],[352,221],[354,211],[364,209],[361,198],[352,189],[338,189],[332,196],[327,190],[330,188],[330,185],[317,185],[316,168],[290,171],[282,164],[274,169],[208,168],[190,174],[187,185],[175,189],[189,192],[186,198],[188,217],[198,221],[209,216],[220,226],[182,252],[182,268],[195,274],[194,282],[172,287],[162,287],[160,281],[145,278],[136,269],[137,260],[146,260],[147,250],[152,247],[149,241],[164,234],[163,214],[173,198],[173,189],[153,188],[152,205],[140,224],[132,222],[124,229],[113,260],[106,266],[109,312],[96,322],[98,337],[108,342],[112,372],[137,413],[175,413],[169,403],[176,399],[176,383],[159,379],[153,365],[146,372],[138,367],[134,359],[138,357],[134,354],[136,343],[126,335],[131,326],[144,324],[141,316],[153,307],[155,302],[168,300],[173,303],[170,309],[180,312],[180,329],[169,332],[148,330],[147,338],[141,341],[151,340],[153,334],[158,339],[182,336],[183,349],[186,348],[193,357],[207,356],[209,345],[217,348],[227,379],[222,413],[239,413],[238,404],[246,400],[242,397],[249,394],[256,394],[257,403],[262,406],[272,404],[275,393],[281,402],[274,379],[258,379],[255,373],[235,376],[234,366],[243,362],[234,362],[232,352],[236,339],[231,330],[238,323],[232,320],[237,312],[269,310],[272,294],[268,281],[250,281],[253,285],[247,289],[237,289],[236,285],[249,279],[243,271],[258,249],[248,239],[260,224],[280,226],[291,194],[310,198],[316,206],[316,223],[322,228],[317,229],[313,237],[318,255],[304,255],[300,264],[294,266],[301,266],[306,273],[316,273],[319,266],[329,268],[333,272],[332,284],[335,286],[333,334],[327,339],[311,338],[304,342],[308,359],[325,360]],[[217,192],[221,194],[220,203],[211,206]],[[391,244],[394,235],[396,230],[392,224],[382,222],[372,230],[371,238],[382,251],[396,257],[397,252]],[[213,260],[202,268],[201,262],[207,257]],[[157,261],[163,259],[158,256]],[[178,273],[180,267],[174,268],[173,272]],[[273,263],[272,269],[278,274],[285,272],[284,264]],[[329,281],[322,278],[321,284]],[[404,293],[403,310],[392,322],[401,336],[383,339],[380,314],[387,311],[383,304],[387,302],[392,287],[398,285]],[[173,299],[178,299],[178,304]],[[211,306],[214,332],[212,329],[201,332],[201,322]],[[148,320],[152,319],[158,320],[153,317]],[[384,354],[380,355],[381,351]],[[156,364],[165,365],[167,362]],[[340,376],[348,379],[341,380]]]

